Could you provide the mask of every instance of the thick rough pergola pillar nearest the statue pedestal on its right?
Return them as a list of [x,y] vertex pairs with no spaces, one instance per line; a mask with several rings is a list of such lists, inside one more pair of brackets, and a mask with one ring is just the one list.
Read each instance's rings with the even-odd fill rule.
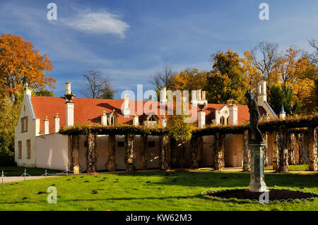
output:
[[288,172],[288,133],[287,130],[279,128],[276,135],[278,149],[278,166],[276,171]]

